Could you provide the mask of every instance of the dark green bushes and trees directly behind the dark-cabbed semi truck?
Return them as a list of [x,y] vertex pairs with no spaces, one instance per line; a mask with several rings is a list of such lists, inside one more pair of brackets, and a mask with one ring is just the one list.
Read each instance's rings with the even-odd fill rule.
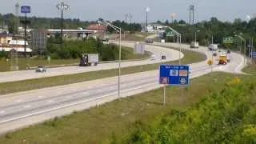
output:
[[[102,61],[114,61],[119,58],[118,46],[114,44],[105,45],[101,39],[78,39],[75,41],[59,42],[60,38],[50,37],[47,41],[46,52],[43,56],[50,56],[52,59],[76,59],[80,58],[82,53],[99,54]],[[63,46],[62,46],[63,45]],[[122,50],[122,59],[126,59],[130,52]]]

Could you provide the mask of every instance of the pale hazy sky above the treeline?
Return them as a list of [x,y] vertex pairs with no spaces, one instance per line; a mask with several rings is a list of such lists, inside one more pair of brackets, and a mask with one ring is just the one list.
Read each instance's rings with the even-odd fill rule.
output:
[[125,20],[125,14],[133,15],[134,22],[146,21],[146,7],[149,22],[171,20],[170,13],[175,13],[174,19],[189,20],[189,6],[195,6],[195,22],[217,17],[222,21],[232,22],[234,18],[246,20],[246,15],[256,16],[256,0],[0,0],[0,13],[15,13],[14,5],[31,6],[31,14],[37,17],[60,17],[56,8],[58,2],[65,2],[70,10],[64,13],[64,18],[79,18],[81,20]]

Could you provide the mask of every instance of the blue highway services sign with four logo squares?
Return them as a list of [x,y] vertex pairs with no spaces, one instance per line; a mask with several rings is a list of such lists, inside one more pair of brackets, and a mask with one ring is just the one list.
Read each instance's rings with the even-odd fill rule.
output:
[[161,65],[159,83],[173,86],[187,86],[190,83],[189,66]]

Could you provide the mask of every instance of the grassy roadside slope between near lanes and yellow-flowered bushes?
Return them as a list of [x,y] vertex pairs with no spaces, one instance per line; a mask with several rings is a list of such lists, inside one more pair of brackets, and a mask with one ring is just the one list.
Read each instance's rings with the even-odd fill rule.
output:
[[150,124],[173,108],[194,105],[202,96],[221,90],[234,77],[251,78],[226,73],[208,74],[194,78],[186,89],[168,86],[166,106],[162,106],[162,89],[152,90],[6,134],[0,138],[0,143],[110,143],[113,134],[115,138],[128,134],[133,122]]

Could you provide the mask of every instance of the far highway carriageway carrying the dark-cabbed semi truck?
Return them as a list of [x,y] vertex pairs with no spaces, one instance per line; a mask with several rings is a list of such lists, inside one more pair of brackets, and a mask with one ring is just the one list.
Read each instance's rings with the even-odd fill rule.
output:
[[[122,42],[122,46],[134,47],[134,43],[130,42]],[[156,55],[156,60],[151,61],[150,59],[137,61],[137,62],[122,62],[122,67],[129,66],[142,66],[146,64],[153,64],[159,62],[170,62],[179,59],[178,50],[168,50],[159,46],[145,46],[145,50],[150,51],[152,54]],[[166,60],[161,60],[160,55],[166,54]],[[184,54],[181,54],[181,58],[183,58]],[[34,78],[46,78],[53,77],[64,74],[78,74],[90,71],[97,70],[110,70],[118,68],[118,62],[111,63],[102,63],[98,64],[98,66],[66,66],[66,67],[57,67],[47,69],[46,73],[35,73],[35,70],[21,70],[21,71],[11,71],[11,72],[1,72],[0,73],[0,82],[14,82],[21,81],[26,79],[34,79]]]

